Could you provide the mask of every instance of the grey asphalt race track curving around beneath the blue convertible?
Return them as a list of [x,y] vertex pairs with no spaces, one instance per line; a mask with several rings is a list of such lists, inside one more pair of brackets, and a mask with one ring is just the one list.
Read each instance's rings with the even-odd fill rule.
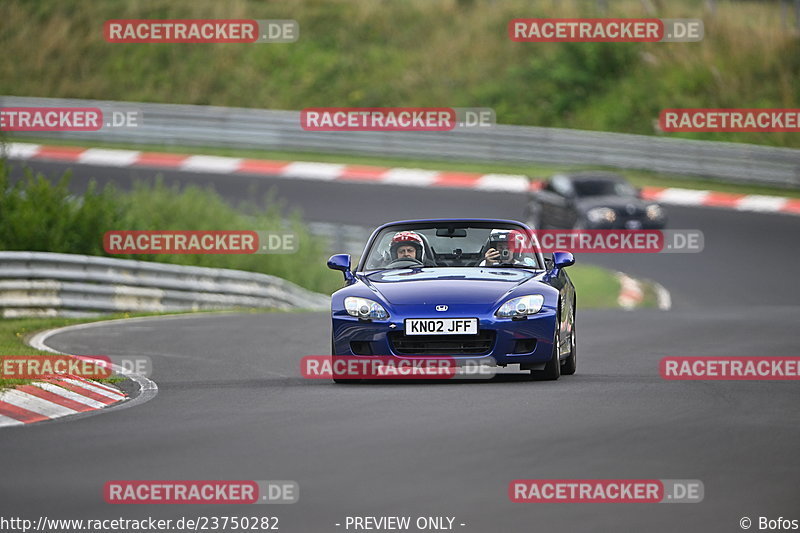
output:
[[[37,170],[64,165],[31,162]],[[80,165],[70,165],[80,169]],[[125,187],[142,169],[87,167]],[[519,195],[162,172],[231,200],[275,186],[306,218],[365,226],[426,216],[518,218]],[[76,189],[82,179],[73,180]],[[800,518],[797,382],[678,382],[665,356],[797,356],[800,218],[669,207],[698,254],[579,256],[670,290],[670,311],[580,311],[578,373],[556,382],[306,380],[329,349],[326,313],[205,315],[52,337],[71,353],[147,355],[159,394],[132,409],[0,433],[4,515],[280,517],[344,531],[350,516],[451,516],[459,531],[741,531]],[[699,479],[697,504],[515,504],[514,479]],[[274,506],[119,506],[108,480],[295,480]],[[460,524],[465,524],[461,526]],[[757,523],[753,530],[757,529]]]

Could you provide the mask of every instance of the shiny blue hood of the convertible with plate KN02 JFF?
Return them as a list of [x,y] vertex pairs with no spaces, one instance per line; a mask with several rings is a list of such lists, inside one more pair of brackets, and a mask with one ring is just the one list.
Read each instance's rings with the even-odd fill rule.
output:
[[381,270],[360,278],[390,305],[452,305],[494,304],[544,274],[521,268],[429,267]]

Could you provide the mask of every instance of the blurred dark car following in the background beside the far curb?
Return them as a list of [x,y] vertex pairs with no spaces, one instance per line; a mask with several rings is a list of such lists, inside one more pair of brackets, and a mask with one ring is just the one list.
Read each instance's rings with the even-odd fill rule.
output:
[[525,220],[534,228],[662,229],[664,209],[612,172],[556,174],[532,191]]

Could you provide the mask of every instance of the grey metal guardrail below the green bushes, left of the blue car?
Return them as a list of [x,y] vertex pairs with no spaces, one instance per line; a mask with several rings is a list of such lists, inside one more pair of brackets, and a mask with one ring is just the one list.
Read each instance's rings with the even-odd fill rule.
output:
[[330,298],[275,276],[47,252],[0,252],[0,309],[18,316],[322,309]]

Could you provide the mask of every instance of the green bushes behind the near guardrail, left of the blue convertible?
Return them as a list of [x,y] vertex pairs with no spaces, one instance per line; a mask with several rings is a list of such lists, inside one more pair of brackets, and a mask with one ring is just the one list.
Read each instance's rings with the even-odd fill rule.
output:
[[180,189],[158,180],[119,192],[91,182],[76,196],[69,179],[67,173],[52,183],[26,168],[12,184],[8,165],[0,160],[0,249],[105,256],[103,235],[110,230],[292,231],[300,243],[294,254],[113,257],[261,272],[328,294],[341,285],[340,276],[325,266],[327,243],[311,235],[299,215],[285,213],[273,194],[234,208],[210,188]]

